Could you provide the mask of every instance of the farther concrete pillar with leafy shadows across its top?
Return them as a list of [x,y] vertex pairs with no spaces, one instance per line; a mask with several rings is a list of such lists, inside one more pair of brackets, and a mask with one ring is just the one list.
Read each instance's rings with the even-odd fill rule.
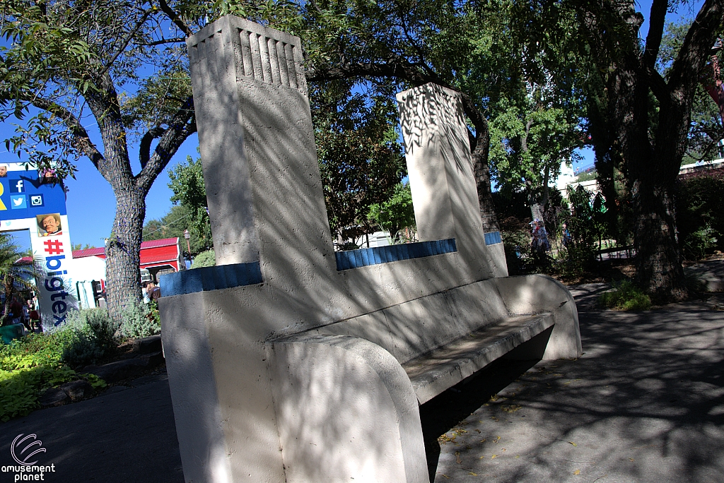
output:
[[397,103],[420,241],[455,238],[481,276],[508,276],[500,233],[483,231],[460,93],[429,83]]

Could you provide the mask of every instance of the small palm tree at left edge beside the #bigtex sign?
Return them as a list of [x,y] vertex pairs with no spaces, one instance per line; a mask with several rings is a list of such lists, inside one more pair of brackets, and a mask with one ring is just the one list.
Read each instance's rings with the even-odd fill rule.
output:
[[17,291],[15,286],[20,285],[23,288],[32,289],[35,287],[32,281],[43,273],[39,261],[20,262],[20,259],[24,256],[25,254],[20,252],[17,245],[14,244],[12,235],[0,233],[0,276],[3,279],[3,292],[5,294],[5,304],[0,325],[10,323],[10,303],[13,294]]

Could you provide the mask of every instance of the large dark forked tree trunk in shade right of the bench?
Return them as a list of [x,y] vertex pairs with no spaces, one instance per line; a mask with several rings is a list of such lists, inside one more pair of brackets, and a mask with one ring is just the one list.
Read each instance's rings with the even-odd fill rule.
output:
[[[643,15],[633,1],[572,2],[584,27],[597,104],[591,104],[592,140],[601,165],[619,158],[633,203],[636,281],[662,299],[686,296],[675,218],[675,181],[689,147],[699,78],[722,25],[724,6],[707,0],[662,74],[657,67],[665,16],[673,7],[653,0],[649,32],[639,43]],[[597,124],[597,125],[595,125]],[[608,156],[608,159],[605,157]],[[598,168],[604,171],[605,166]],[[611,169],[610,167],[608,169]]]

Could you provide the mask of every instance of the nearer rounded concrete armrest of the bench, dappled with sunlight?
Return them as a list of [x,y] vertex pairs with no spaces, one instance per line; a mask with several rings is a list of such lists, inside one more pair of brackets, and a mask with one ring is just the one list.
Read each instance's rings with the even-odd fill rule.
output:
[[392,355],[349,335],[269,343],[287,482],[426,482],[417,398]]

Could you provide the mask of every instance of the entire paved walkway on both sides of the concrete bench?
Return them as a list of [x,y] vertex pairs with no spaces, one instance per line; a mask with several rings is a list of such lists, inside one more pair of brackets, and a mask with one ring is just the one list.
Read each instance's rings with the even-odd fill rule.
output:
[[[724,312],[711,307],[581,312],[580,359],[496,364],[446,391],[421,410],[434,481],[724,481]],[[167,380],[134,385],[0,424],[0,466],[35,433],[56,468],[46,482],[182,482]]]

